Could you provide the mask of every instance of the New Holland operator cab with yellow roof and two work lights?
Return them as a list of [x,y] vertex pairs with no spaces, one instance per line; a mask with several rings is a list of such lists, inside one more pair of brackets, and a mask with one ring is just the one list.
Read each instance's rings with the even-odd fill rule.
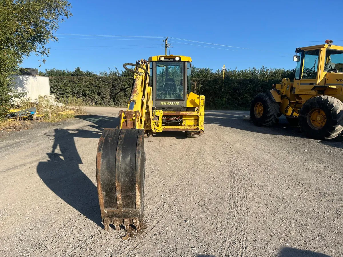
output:
[[192,89],[191,61],[190,57],[173,55],[149,58],[153,106],[157,110],[187,110],[187,94]]

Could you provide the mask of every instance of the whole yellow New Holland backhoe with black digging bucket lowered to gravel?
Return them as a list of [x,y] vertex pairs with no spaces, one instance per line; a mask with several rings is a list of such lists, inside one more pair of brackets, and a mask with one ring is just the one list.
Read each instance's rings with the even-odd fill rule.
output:
[[[128,108],[119,112],[119,128],[104,129],[96,156],[96,181],[105,230],[130,224],[140,230],[144,210],[144,135],[185,131],[204,133],[204,96],[192,93],[191,58],[153,56],[125,63],[134,73]],[[131,70],[127,66],[134,66]]]

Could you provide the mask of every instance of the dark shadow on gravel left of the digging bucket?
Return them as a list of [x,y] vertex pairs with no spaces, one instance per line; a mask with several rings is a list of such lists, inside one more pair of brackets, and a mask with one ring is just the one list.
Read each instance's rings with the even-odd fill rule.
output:
[[[51,152],[47,152],[49,159],[38,163],[37,173],[63,201],[102,227],[97,188],[79,168],[82,160],[74,138],[100,138],[103,128],[116,127],[119,118],[99,115],[79,115],[75,118],[92,122],[88,126],[92,127],[93,131],[55,129],[54,132],[47,133],[46,136],[54,140],[54,144]],[[57,147],[61,154],[56,152]],[[89,154],[95,156],[96,149],[89,150]]]

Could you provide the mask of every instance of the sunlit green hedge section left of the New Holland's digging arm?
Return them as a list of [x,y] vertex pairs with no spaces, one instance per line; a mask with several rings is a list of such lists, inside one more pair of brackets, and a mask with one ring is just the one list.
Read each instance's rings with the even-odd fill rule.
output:
[[[58,100],[77,97],[89,105],[126,106],[132,85],[132,80],[119,82],[126,77],[49,77],[50,92]],[[118,91],[120,93],[115,95]],[[115,96],[114,96],[115,95]]]

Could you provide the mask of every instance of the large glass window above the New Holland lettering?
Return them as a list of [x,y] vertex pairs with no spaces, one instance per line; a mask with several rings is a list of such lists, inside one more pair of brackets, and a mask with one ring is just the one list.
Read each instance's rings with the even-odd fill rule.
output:
[[156,100],[184,99],[184,63],[156,62]]

